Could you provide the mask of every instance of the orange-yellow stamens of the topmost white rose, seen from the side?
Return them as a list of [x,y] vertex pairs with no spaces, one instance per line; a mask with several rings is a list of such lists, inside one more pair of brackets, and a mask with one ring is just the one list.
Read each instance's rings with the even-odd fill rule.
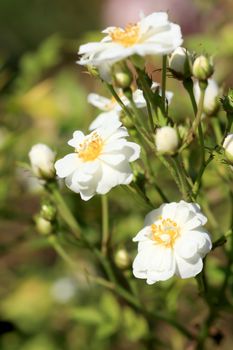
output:
[[133,46],[139,40],[139,25],[128,24],[125,29],[115,28],[110,32],[112,41],[122,46]]

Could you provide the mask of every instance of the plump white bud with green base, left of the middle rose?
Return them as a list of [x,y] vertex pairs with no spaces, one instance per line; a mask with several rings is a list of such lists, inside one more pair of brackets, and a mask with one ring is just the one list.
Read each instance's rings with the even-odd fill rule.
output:
[[29,159],[36,176],[44,179],[51,179],[55,176],[55,152],[47,145],[42,143],[34,145],[29,152]]

